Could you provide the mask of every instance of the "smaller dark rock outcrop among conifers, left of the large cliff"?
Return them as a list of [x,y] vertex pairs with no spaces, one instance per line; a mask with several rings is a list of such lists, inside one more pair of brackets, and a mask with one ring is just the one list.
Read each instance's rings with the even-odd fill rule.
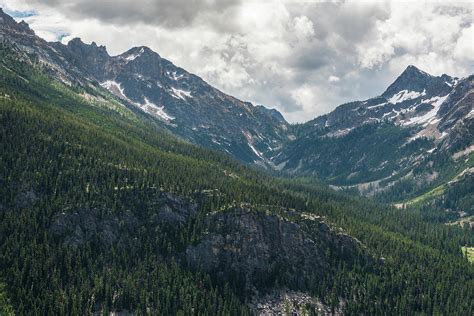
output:
[[134,247],[137,233],[157,227],[179,228],[196,215],[197,205],[167,192],[153,192],[153,198],[140,210],[114,212],[99,206],[71,207],[54,216],[50,231],[65,246]]

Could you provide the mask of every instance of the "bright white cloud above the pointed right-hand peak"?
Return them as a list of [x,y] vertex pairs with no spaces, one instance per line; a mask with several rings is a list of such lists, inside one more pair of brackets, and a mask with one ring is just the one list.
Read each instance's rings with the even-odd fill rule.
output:
[[410,62],[433,74],[466,75],[473,70],[472,14],[472,3],[392,2],[390,17],[377,21],[356,45],[358,62],[365,68],[388,63],[397,70]]

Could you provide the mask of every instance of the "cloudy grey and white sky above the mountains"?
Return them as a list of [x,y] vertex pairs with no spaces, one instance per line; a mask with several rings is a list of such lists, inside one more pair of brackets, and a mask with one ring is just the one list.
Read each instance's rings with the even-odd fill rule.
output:
[[0,0],[37,35],[149,46],[241,100],[305,122],[408,66],[474,73],[474,1]]

